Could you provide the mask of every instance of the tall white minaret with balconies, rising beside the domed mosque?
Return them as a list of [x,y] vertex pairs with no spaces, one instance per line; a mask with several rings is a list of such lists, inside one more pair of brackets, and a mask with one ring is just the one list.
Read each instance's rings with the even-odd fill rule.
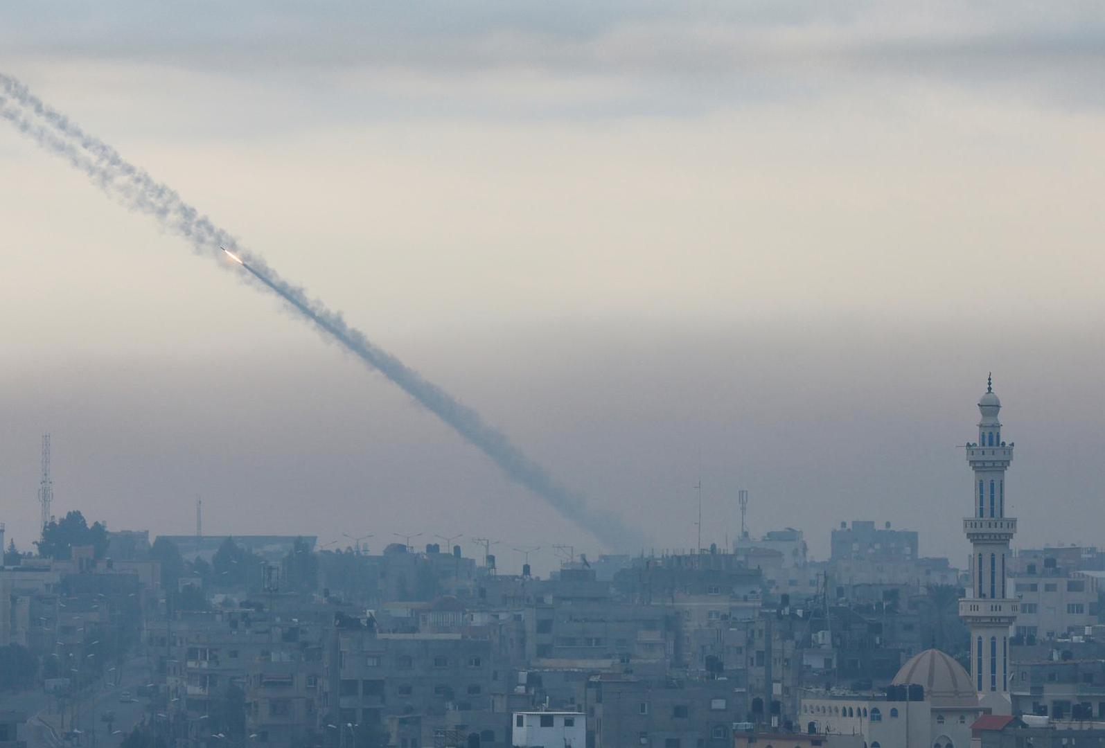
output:
[[959,617],[970,629],[971,681],[979,700],[993,714],[1010,714],[1009,629],[1017,620],[1018,601],[1007,597],[1006,566],[1017,519],[1006,516],[1006,471],[1013,460],[1013,444],[1001,440],[998,411],[1001,401],[987,377],[986,394],[978,401],[982,420],[978,442],[967,444],[971,482],[971,516],[964,533],[971,544],[969,596],[959,601]]

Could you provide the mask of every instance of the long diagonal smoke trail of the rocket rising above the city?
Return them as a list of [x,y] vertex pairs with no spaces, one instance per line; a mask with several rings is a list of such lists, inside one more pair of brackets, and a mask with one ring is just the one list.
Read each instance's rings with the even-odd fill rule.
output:
[[[641,537],[609,512],[591,509],[583,497],[552,478],[528,459],[505,434],[487,425],[478,413],[459,402],[436,384],[423,379],[391,354],[372,344],[341,318],[340,313],[312,301],[284,281],[265,262],[239,246],[225,230],[185,202],[176,191],[155,181],[108,146],[86,134],[64,115],[54,112],[15,78],[0,73],[0,117],[74,168],[87,175],[109,197],[129,210],[154,217],[168,231],[185,238],[198,254],[222,259],[220,247],[231,250],[263,286],[314,323],[327,339],[338,343],[369,367],[380,371],[422,407],[452,426],[470,444],[487,455],[512,481],[544,498],[560,515],[593,534],[610,548],[634,550]],[[223,263],[230,266],[229,263]],[[233,268],[233,266],[231,266]]]

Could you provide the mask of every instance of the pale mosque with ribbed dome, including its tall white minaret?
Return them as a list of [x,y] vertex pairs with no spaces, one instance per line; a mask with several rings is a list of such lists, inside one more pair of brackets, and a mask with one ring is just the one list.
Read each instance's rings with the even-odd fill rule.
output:
[[800,717],[807,733],[860,735],[869,748],[968,748],[979,717],[1012,713],[1009,631],[1018,601],[1006,597],[1006,568],[1017,520],[1006,516],[1006,471],[1013,444],[1002,441],[1001,401],[990,378],[978,409],[978,441],[966,447],[974,472],[970,515],[964,519],[971,589],[959,601],[959,615],[970,630],[971,672],[944,652],[927,650],[902,665],[885,695],[803,697]]

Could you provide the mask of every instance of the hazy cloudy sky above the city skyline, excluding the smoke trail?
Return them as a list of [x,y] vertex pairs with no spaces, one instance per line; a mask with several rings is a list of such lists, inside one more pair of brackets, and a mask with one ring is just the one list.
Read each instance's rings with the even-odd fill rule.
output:
[[[747,488],[817,557],[873,519],[961,563],[991,370],[1014,545],[1105,544],[1103,63],[1095,2],[0,7],[0,72],[656,550],[701,480],[704,545]],[[49,431],[112,528],[602,551],[10,127],[0,175],[20,547]]]

